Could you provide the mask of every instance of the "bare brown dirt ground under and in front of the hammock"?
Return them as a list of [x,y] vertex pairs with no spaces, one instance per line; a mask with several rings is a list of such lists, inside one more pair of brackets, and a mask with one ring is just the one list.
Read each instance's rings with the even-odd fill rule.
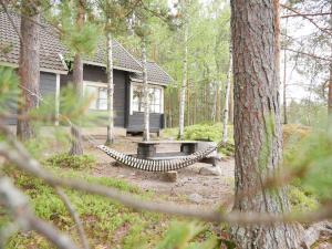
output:
[[[136,143],[141,138],[124,137],[114,145],[115,149],[124,153],[135,153]],[[163,152],[172,151],[174,147],[159,147]],[[199,174],[201,167],[207,164],[197,163],[178,172],[176,183],[163,179],[162,173],[148,173],[135,170],[124,166],[112,166],[115,160],[102,152],[90,148],[89,154],[95,155],[97,165],[93,169],[94,176],[110,176],[125,179],[146,191],[155,193],[154,196],[173,200],[178,204],[199,205],[210,208],[217,204],[226,204],[234,195],[234,159],[221,160],[219,176],[205,176]],[[227,205],[228,206],[228,205]]]

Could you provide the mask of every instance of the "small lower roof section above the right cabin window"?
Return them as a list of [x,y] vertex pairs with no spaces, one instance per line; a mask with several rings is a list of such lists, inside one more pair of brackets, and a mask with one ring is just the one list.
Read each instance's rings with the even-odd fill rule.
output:
[[[142,62],[141,62],[142,63]],[[151,84],[167,85],[173,79],[155,62],[147,62],[147,82]],[[142,73],[133,73],[132,81],[143,82]]]

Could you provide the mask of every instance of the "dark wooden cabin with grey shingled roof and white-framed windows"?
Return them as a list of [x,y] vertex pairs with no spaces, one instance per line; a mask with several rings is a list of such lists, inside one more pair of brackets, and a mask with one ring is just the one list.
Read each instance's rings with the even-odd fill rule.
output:
[[[0,53],[0,65],[18,68],[20,41],[15,30],[20,30],[20,17],[10,13],[14,21],[12,27],[8,15],[0,11],[0,46],[10,46],[6,54]],[[55,113],[61,113],[60,91],[71,83],[70,61],[55,30],[46,24],[40,29],[40,91],[41,95],[54,95]],[[107,112],[106,84],[106,45],[100,44],[94,55],[83,60],[84,93],[95,96],[90,112]],[[143,132],[144,110],[142,104],[142,63],[122,44],[113,41],[114,74],[114,125],[126,133]],[[149,84],[151,132],[158,133],[164,127],[164,91],[172,77],[155,62],[147,63]],[[15,125],[14,120],[8,121]]]

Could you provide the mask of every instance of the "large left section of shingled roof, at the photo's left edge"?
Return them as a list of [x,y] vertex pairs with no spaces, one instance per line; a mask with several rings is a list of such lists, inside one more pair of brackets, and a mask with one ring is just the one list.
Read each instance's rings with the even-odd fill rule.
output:
[[[8,48],[8,52],[0,52],[0,64],[18,66],[20,56],[20,17],[17,13],[9,13],[15,28],[13,28],[7,13],[0,11],[0,49]],[[40,29],[40,68],[41,71],[55,71],[66,74],[66,65],[61,60],[63,45],[56,39],[56,32],[51,25],[44,24]],[[55,37],[54,37],[55,35]],[[1,63],[2,62],[2,63]]]

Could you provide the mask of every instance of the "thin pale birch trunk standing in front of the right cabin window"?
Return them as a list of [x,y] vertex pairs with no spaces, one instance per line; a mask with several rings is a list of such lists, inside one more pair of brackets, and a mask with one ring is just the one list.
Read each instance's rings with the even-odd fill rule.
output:
[[146,71],[146,39],[142,38],[143,97],[144,97],[144,132],[143,141],[149,141],[149,101]]

